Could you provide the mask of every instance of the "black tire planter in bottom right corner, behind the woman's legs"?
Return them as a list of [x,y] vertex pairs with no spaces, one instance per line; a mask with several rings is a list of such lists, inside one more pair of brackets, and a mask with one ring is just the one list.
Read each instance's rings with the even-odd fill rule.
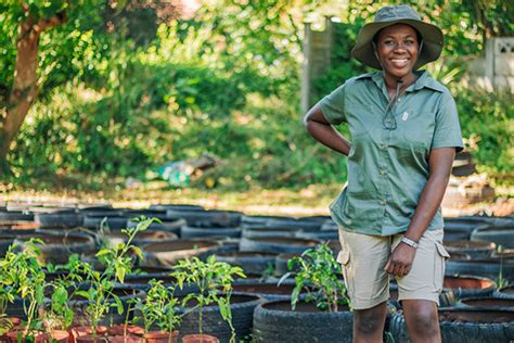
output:
[[[514,339],[514,310],[442,308],[439,328],[445,343],[510,342]],[[410,342],[401,312],[391,315],[389,331],[396,343]]]

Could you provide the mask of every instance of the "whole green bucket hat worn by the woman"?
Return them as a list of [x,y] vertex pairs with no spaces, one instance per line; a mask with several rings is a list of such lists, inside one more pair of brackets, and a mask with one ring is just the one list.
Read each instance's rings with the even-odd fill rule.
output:
[[365,24],[359,31],[356,46],[351,49],[351,56],[362,64],[382,69],[373,48],[373,37],[384,27],[395,24],[410,25],[422,36],[423,46],[414,69],[439,58],[444,45],[442,31],[439,27],[423,22],[413,9],[404,4],[380,9],[373,23]]

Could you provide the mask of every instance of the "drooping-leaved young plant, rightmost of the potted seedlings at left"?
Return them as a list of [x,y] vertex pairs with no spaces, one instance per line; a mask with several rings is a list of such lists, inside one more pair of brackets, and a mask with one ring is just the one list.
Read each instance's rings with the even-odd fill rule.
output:
[[198,292],[189,293],[182,300],[182,306],[187,306],[191,300],[196,301],[196,305],[191,309],[198,309],[198,331],[202,334],[203,308],[210,304],[217,304],[221,317],[230,327],[232,336],[230,342],[235,342],[235,329],[232,325],[232,312],[230,309],[230,296],[232,294],[232,282],[234,276],[242,278],[246,276],[240,267],[233,267],[224,262],[216,262],[216,256],[210,255],[206,262],[198,257],[180,261],[176,265],[176,270],[171,272],[177,279],[180,289],[184,283],[194,284]]

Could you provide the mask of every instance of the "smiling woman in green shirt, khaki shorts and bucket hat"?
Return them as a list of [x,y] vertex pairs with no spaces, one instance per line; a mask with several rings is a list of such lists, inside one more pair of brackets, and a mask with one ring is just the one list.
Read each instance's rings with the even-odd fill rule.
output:
[[[438,59],[442,33],[407,5],[382,8],[351,51],[380,69],[323,98],[308,132],[348,156],[348,182],[331,204],[339,226],[354,341],[382,342],[389,275],[413,342],[440,342],[445,259],[440,202],[462,138],[455,103],[422,65]],[[332,125],[345,122],[351,141]]]

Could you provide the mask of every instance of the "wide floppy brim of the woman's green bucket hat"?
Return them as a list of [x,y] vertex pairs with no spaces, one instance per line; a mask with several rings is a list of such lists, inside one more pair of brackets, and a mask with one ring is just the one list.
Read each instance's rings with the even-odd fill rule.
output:
[[417,58],[417,62],[414,65],[414,69],[417,69],[429,62],[436,61],[439,58],[445,43],[445,38],[439,27],[421,21],[407,18],[365,24],[357,36],[356,46],[351,49],[351,56],[362,64],[375,69],[382,69],[382,65],[376,59],[372,40],[381,29],[395,24],[410,25],[423,37],[423,48]]

